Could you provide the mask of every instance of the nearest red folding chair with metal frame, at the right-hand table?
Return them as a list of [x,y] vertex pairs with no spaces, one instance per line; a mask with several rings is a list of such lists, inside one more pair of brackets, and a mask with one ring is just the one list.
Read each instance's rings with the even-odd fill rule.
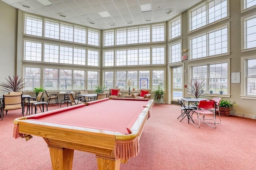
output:
[[[213,111],[209,111],[209,109],[212,109]],[[197,114],[198,118],[198,125],[191,123],[195,125],[196,127],[200,127],[200,119],[202,120],[203,123],[206,125],[209,125],[210,127],[216,128],[216,115],[215,115],[215,101],[214,100],[201,100],[198,104],[197,109],[193,110],[193,114]],[[192,114],[192,116],[193,116]],[[200,114],[202,114],[202,117],[200,117]],[[212,115],[212,118],[208,118],[206,115]],[[206,117],[205,117],[206,116]],[[193,117],[192,117],[193,119]],[[212,120],[212,121],[206,121],[206,120]],[[214,125],[210,125],[209,123],[212,123]]]

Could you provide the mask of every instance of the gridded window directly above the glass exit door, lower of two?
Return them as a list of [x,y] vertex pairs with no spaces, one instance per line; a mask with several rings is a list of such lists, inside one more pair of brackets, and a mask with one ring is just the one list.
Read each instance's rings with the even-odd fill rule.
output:
[[169,63],[181,61],[181,43],[180,41],[169,45]]

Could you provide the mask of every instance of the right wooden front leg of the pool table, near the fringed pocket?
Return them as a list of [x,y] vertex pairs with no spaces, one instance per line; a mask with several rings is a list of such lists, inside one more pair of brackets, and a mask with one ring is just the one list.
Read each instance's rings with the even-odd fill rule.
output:
[[96,155],[98,162],[98,170],[119,170],[120,160],[114,158],[105,158],[103,156]]

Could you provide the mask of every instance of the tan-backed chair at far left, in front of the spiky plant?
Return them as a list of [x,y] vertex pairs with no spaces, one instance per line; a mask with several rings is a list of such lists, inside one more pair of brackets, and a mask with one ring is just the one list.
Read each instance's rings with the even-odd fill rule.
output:
[[[14,109],[22,109],[22,94],[4,94],[3,95],[3,104],[1,108],[3,120],[4,117],[4,110],[6,110],[6,114],[8,110]],[[24,112],[22,109],[22,116],[24,116]]]

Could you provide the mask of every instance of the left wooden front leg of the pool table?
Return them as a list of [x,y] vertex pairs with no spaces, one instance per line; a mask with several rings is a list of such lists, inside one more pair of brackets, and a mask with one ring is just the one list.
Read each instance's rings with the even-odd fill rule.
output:
[[72,170],[73,149],[49,147],[52,160],[52,170]]

